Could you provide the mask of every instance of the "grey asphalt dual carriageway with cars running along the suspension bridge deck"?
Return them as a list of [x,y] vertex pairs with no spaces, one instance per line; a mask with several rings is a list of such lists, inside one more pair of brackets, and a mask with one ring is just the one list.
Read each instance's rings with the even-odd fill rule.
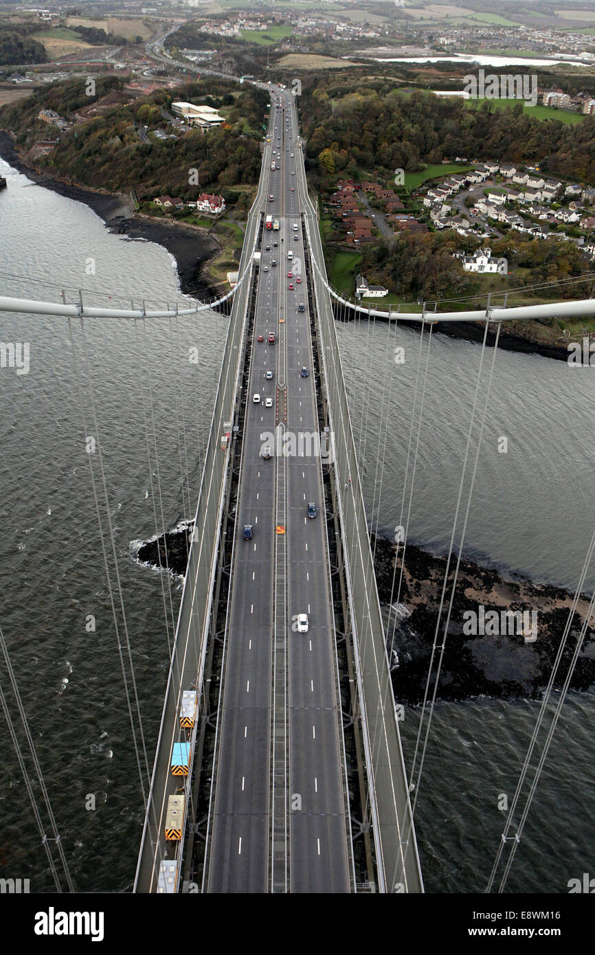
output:
[[[351,891],[353,874],[322,463],[299,440],[318,434],[318,420],[297,131],[290,96],[279,96],[287,112],[275,110],[272,94],[263,168],[274,197],[265,213],[280,229],[262,239],[203,890],[341,893]],[[296,435],[296,454],[277,447],[266,459],[262,435],[277,425]],[[252,525],[249,541],[244,524]],[[297,632],[300,613],[307,633]]]

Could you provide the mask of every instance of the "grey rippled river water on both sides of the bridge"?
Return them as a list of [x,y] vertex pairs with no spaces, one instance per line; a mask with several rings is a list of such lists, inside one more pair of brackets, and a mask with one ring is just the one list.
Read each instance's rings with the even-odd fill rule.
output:
[[[131,295],[155,304],[180,298],[171,258],[159,246],[110,235],[85,206],[32,185],[2,162],[0,175],[9,177],[8,192],[0,195],[0,285],[7,294],[55,300],[51,279],[69,286],[70,301],[71,286],[107,289],[118,304],[126,304]],[[95,276],[85,272],[90,257],[96,260]],[[8,273],[37,282],[9,279]],[[96,432],[88,379],[82,373],[84,341],[74,323],[85,428],[66,320],[4,315],[0,323],[3,341],[31,343],[29,374],[0,371],[0,624],[75,887],[127,891],[134,879],[142,804],[84,451],[84,438]],[[156,533],[150,487],[153,477],[157,493],[157,467],[154,454],[151,467],[147,459],[140,373],[145,392],[151,381],[163,523],[169,528],[194,509],[225,327],[225,319],[210,314],[180,321],[172,329],[175,346],[180,335],[175,359],[169,323],[147,326],[146,355],[139,329],[139,371],[134,326],[115,321],[89,321],[85,326],[149,762],[167,668],[163,607],[170,616],[171,584],[175,617],[180,584],[139,566],[131,549],[132,541]],[[380,528],[388,533],[399,522],[419,346],[414,331],[398,334],[406,362],[397,368],[393,331],[379,324],[339,328],[354,429],[366,460],[365,493],[370,509],[376,505]],[[198,369],[186,359],[192,345],[200,347]],[[436,549],[443,549],[449,539],[478,353],[476,345],[440,336],[431,353],[411,535]],[[364,379],[372,382],[370,390],[363,389]],[[379,465],[377,471],[389,392],[387,453],[384,469]],[[467,553],[536,580],[575,583],[593,522],[592,398],[588,371],[570,371],[563,363],[535,356],[499,355]],[[190,505],[182,503],[182,407],[189,476],[185,498]],[[149,427],[152,438],[151,421]],[[506,456],[495,451],[499,435],[509,436]],[[105,528],[96,465],[95,459]],[[373,486],[380,473],[378,509]],[[108,560],[111,565],[109,553]],[[96,629],[88,632],[90,614]],[[121,615],[117,619],[121,627]],[[502,825],[498,796],[514,792],[537,710],[535,703],[494,700],[437,707],[418,802],[417,831],[428,890],[473,892],[484,887]],[[509,890],[565,891],[568,879],[593,871],[592,850],[589,858],[585,847],[595,844],[588,729],[594,715],[590,694],[574,696],[566,705]],[[408,711],[403,725],[408,760],[416,720],[416,711]],[[1,875],[29,877],[32,891],[47,891],[53,883],[11,743],[6,731],[1,732]],[[95,809],[85,808],[93,801],[89,796],[95,796]]]

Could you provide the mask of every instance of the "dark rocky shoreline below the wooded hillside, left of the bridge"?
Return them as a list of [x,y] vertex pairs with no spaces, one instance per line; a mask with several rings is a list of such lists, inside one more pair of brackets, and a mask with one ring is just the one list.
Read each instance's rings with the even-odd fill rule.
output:
[[110,231],[131,239],[145,239],[163,245],[174,256],[181,292],[208,300],[221,291],[210,281],[207,266],[220,246],[198,226],[171,220],[147,219],[135,213],[129,198],[122,194],[84,189],[74,182],[54,179],[27,166],[14,148],[11,136],[0,130],[0,158],[37,185],[51,189],[59,196],[84,202],[99,216]]

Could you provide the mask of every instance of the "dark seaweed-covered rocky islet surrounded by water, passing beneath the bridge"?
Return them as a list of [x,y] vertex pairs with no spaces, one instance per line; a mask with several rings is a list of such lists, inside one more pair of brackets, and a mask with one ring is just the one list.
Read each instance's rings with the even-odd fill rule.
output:
[[[159,567],[160,559],[160,566],[165,567],[167,550],[169,570],[183,575],[191,532],[191,526],[176,529],[162,535],[157,541],[142,544],[136,555],[138,561]],[[396,546],[385,538],[375,541],[372,538],[372,548],[375,549],[376,583],[392,658],[395,699],[398,703],[417,706],[423,700],[426,687],[446,560],[414,544],[407,545],[399,608],[395,612],[401,569],[399,559],[396,573],[394,571]],[[451,581],[454,566],[453,561]],[[447,587],[438,645],[442,644],[449,598],[450,590]],[[588,599],[582,595],[579,601],[559,676],[554,684],[557,690],[563,684],[567,665],[576,646],[576,636],[584,620]],[[464,701],[478,696],[497,699],[540,698],[549,679],[571,602],[572,594],[561,587],[533,584],[518,574],[504,576],[494,569],[462,561],[436,699]],[[523,636],[517,634],[465,635],[463,613],[478,612],[481,605],[486,612],[490,609],[498,612],[508,609],[537,611],[537,639],[535,642],[525,642]],[[589,628],[571,689],[587,690],[593,684],[595,632]]]

